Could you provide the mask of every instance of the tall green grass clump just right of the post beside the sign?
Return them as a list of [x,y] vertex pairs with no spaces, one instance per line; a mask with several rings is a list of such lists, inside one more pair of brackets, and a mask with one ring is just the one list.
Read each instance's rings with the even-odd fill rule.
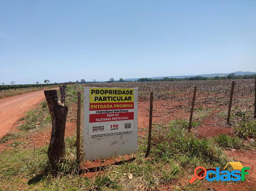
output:
[[156,136],[153,136],[155,157],[165,161],[175,158],[181,160],[183,166],[195,162],[193,166],[195,167],[197,161],[206,165],[225,164],[226,158],[221,149],[209,139],[199,139],[188,133],[186,128],[181,128],[184,122],[179,121],[172,121],[167,127],[155,128]]

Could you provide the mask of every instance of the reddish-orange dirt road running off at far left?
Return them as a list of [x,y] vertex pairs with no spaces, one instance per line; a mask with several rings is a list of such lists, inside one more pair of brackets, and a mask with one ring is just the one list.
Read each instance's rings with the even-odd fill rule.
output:
[[14,128],[15,122],[24,116],[25,111],[33,108],[34,104],[41,102],[44,90],[16,95],[0,100],[0,138]]

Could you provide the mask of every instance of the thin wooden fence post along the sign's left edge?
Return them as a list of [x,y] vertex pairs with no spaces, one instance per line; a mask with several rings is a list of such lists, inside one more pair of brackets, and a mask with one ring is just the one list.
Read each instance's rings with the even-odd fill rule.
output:
[[81,91],[77,91],[76,160],[80,161]]

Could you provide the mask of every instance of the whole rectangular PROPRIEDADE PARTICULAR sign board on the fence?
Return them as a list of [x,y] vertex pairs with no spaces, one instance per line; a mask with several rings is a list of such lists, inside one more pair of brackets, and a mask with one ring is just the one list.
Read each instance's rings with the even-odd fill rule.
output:
[[136,153],[138,89],[84,88],[84,160]]

